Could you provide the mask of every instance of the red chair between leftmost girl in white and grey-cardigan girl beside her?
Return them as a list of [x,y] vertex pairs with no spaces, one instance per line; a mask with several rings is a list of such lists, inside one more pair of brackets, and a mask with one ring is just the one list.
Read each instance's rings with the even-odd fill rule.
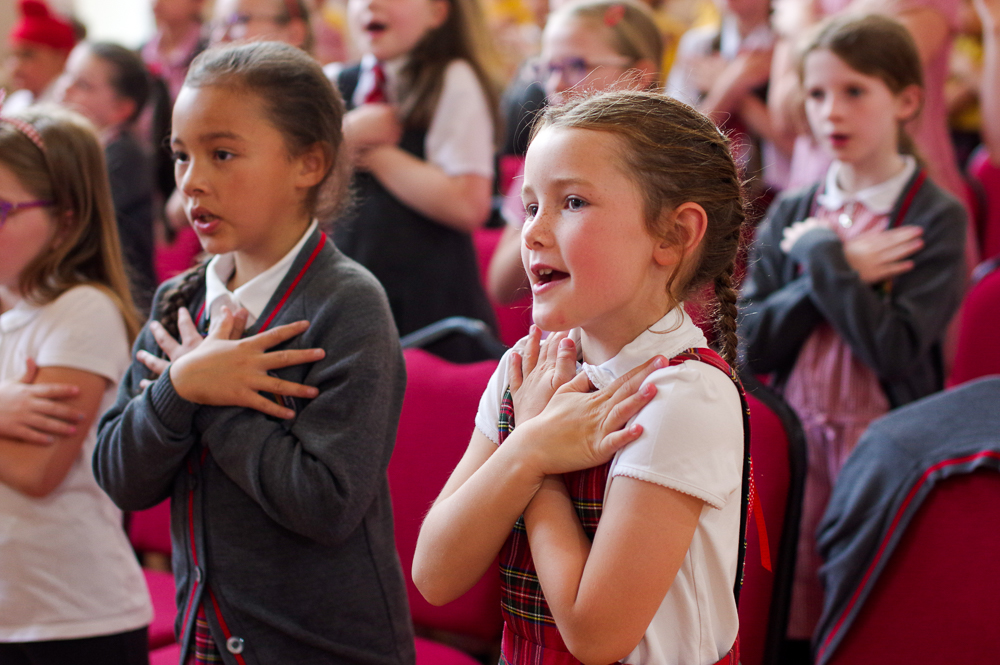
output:
[[[140,554],[156,553],[170,556],[170,499],[129,517],[129,541]],[[153,623],[149,626],[149,648],[172,644],[174,618],[177,616],[177,591],[173,573],[142,569],[146,588],[153,601]]]

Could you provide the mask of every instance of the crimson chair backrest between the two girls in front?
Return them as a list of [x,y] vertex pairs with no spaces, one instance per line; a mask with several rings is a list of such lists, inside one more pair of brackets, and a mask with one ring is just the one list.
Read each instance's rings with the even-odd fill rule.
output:
[[487,572],[458,600],[435,607],[411,579],[413,552],[424,515],[468,447],[479,399],[497,361],[457,365],[420,349],[406,357],[407,386],[396,448],[389,463],[396,549],[417,626],[476,639],[499,640],[500,575]]

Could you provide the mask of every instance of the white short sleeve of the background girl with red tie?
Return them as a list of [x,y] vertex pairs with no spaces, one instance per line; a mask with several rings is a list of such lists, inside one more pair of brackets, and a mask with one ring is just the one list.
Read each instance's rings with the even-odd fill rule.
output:
[[493,115],[472,66],[453,60],[425,139],[427,161],[450,176],[493,177]]

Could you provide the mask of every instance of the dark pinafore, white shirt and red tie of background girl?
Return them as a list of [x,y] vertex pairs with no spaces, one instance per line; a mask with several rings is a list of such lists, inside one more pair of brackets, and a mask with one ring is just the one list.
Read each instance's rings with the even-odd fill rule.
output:
[[[363,103],[374,85],[371,57],[339,71],[336,83],[348,109]],[[386,100],[402,61],[385,64]],[[399,147],[448,175],[493,177],[493,126],[472,67],[453,61],[445,72],[441,101],[428,129],[407,128]],[[355,173],[355,201],[337,220],[334,242],[361,263],[385,288],[401,335],[449,316],[466,316],[496,329],[493,308],[479,279],[479,264],[468,233],[413,210],[372,174]],[[482,359],[468,340],[446,339],[428,348],[453,361]]]

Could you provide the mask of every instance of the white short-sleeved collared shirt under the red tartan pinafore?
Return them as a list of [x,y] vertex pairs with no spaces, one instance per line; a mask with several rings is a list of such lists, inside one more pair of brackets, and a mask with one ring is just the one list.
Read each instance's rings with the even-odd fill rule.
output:
[[[707,346],[701,330],[679,311],[669,312],[611,360],[582,363],[583,371],[601,388],[658,353],[670,358]],[[579,348],[579,331],[573,335]],[[500,361],[476,414],[476,427],[494,443],[509,358],[510,352]],[[732,647],[739,628],[733,598],[743,479],[739,394],[726,374],[697,360],[657,370],[646,381],[656,384],[656,396],[629,423],[641,424],[643,433],[615,455],[609,478],[657,483],[705,505],[677,577],[642,641],[623,662],[715,663]]]

